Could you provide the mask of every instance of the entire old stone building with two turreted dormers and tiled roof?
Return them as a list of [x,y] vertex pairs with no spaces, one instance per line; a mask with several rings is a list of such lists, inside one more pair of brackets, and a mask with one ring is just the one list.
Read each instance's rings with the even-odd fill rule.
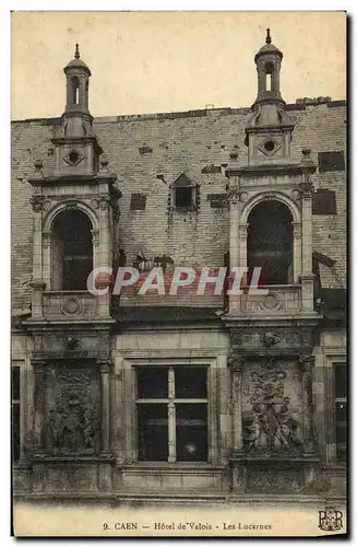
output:
[[[286,104],[282,58],[251,108],[94,119],[76,48],[61,118],[12,124],[15,496],[344,498],[346,105]],[[265,293],[86,290],[123,265]]]

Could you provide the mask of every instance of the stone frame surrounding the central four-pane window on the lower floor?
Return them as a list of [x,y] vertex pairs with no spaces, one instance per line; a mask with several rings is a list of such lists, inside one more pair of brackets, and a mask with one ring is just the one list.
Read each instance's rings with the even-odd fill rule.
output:
[[[128,360],[129,361],[129,360]],[[217,382],[216,374],[217,374],[217,368],[215,360],[210,360],[210,359],[151,359],[150,361],[145,359],[136,359],[134,361],[131,361],[128,363],[130,369],[131,369],[131,406],[130,406],[130,414],[131,414],[131,427],[129,428],[131,439],[128,439],[128,447],[130,446],[131,449],[131,463],[136,464],[136,465],[145,465],[145,466],[157,466],[157,465],[163,465],[163,466],[181,466],[181,465],[193,465],[193,466],[202,466],[202,465],[212,465],[217,463],[217,455],[218,455],[218,428],[217,428],[217,420],[218,416],[215,415],[215,409],[216,409],[216,401],[215,397],[217,397],[217,394],[215,393],[215,385]],[[194,366],[194,365],[200,365],[200,366],[206,366],[207,369],[207,375],[206,375],[206,387],[207,387],[207,394],[206,394],[206,405],[207,405],[207,459],[202,461],[202,462],[194,462],[194,461],[188,461],[188,462],[182,462],[182,461],[176,461],[176,462],[169,462],[169,461],[140,461],[138,455],[139,455],[139,445],[138,445],[138,410],[136,410],[136,369],[138,368],[148,368],[148,366],[164,366],[164,368],[175,368],[175,366]],[[179,398],[178,398],[179,399]],[[144,399],[142,399],[144,400]],[[153,399],[154,400],[154,399]],[[155,401],[156,404],[159,400],[166,400],[166,399],[159,399],[156,398]],[[183,400],[183,399],[182,399]],[[193,401],[197,399],[186,399],[188,403]],[[128,435],[129,437],[129,435]],[[170,442],[170,439],[169,439]]]

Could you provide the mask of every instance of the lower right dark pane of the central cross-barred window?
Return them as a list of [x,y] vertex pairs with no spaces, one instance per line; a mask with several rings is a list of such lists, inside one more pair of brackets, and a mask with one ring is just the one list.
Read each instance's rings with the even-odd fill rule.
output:
[[207,405],[176,405],[176,450],[178,462],[207,461]]

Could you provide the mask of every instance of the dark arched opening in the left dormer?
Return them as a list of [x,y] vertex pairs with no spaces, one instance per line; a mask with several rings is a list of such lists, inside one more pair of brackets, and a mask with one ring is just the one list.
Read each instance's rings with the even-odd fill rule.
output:
[[52,289],[84,291],[93,270],[92,222],[80,210],[66,210],[52,229]]

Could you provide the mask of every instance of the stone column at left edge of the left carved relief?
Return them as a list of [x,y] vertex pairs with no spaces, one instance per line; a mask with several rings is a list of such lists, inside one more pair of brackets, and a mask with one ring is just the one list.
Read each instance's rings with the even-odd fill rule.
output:
[[45,362],[33,360],[34,368],[34,456],[45,452]]

